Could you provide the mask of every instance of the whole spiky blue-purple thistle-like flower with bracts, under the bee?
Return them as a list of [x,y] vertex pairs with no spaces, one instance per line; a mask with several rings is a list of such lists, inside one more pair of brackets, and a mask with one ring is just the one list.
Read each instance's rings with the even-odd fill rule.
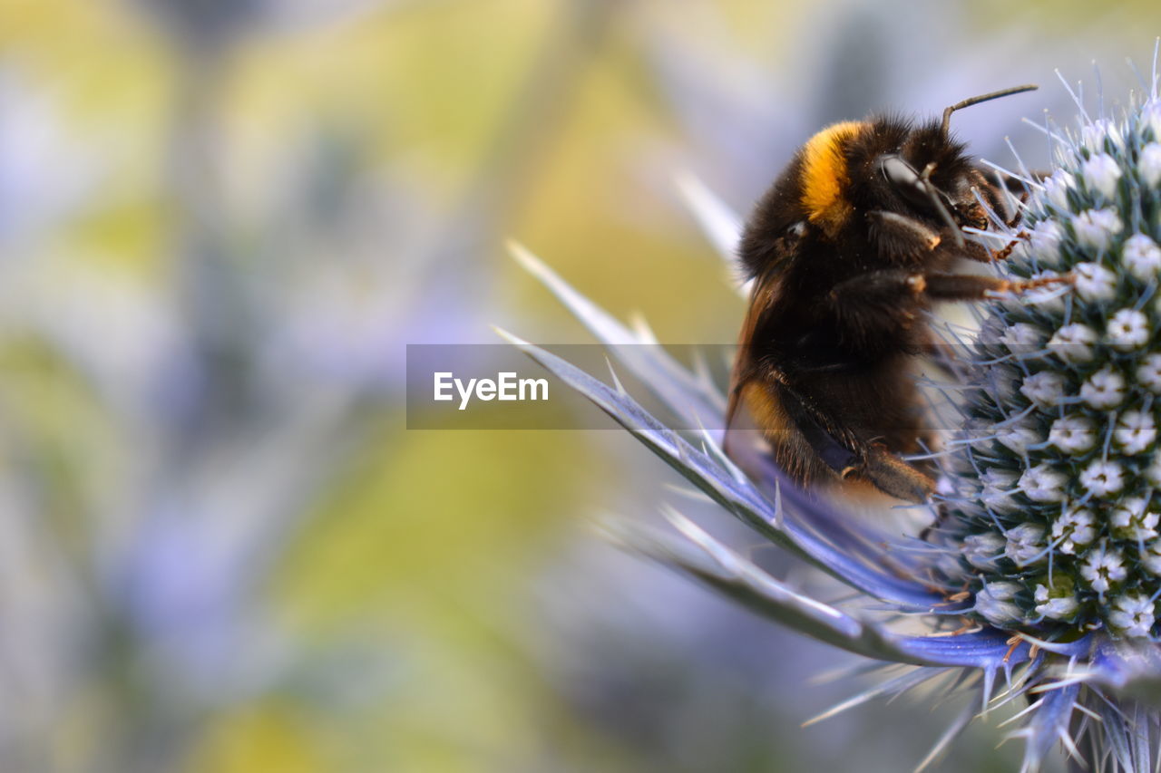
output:
[[[1083,107],[1081,108],[1083,114]],[[549,352],[512,337],[728,513],[861,594],[851,609],[808,598],[668,508],[679,537],[620,537],[734,599],[824,642],[914,670],[853,701],[933,677],[974,689],[935,758],[980,710],[1022,708],[1025,770],[1060,742],[1096,770],[1152,770],[1161,737],[1161,100],[1156,84],[1120,120],[1045,127],[1051,176],[1027,181],[1021,231],[997,267],[1019,279],[1070,275],[997,297],[959,347],[957,429],[940,451],[933,523],[900,539],[834,512],[769,467],[744,475],[720,433],[687,438]],[[688,187],[688,186],[687,186]],[[701,192],[702,194],[705,192]],[[728,212],[699,195],[715,243]],[[1003,246],[1003,244],[998,245]],[[720,426],[722,395],[564,284],[542,279],[685,426]],[[949,326],[950,331],[951,327]],[[852,602],[846,602],[848,605]],[[858,601],[853,604],[859,604]],[[887,607],[890,617],[872,616]],[[925,629],[895,624],[902,615]]]

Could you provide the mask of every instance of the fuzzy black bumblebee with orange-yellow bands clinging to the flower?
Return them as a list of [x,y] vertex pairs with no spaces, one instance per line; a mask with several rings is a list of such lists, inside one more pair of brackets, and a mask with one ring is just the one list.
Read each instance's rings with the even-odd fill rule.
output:
[[[844,483],[924,503],[930,469],[900,456],[932,438],[914,377],[932,351],[925,317],[942,301],[1022,292],[1053,280],[957,274],[1002,260],[964,238],[988,209],[1015,226],[1023,182],[986,171],[943,120],[871,117],[823,129],[759,200],[740,246],[752,280],[727,409],[726,451],[747,467],[737,429],[760,431],[774,463],[806,487]],[[1007,189],[1007,190],[1005,190]],[[1026,193],[1024,193],[1026,195]],[[1015,210],[1015,211],[1012,211]]]

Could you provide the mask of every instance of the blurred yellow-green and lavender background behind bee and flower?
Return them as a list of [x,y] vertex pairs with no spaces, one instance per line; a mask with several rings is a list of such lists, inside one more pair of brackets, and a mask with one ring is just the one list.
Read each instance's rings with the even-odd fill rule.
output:
[[[1019,118],[1070,115],[1053,67],[1124,101],[1159,22],[0,0],[0,771],[909,768],[949,707],[799,729],[845,660],[592,536],[656,511],[658,464],[406,431],[404,346],[589,340],[507,238],[662,341],[730,341],[676,173],[744,212],[827,122],[1027,81],[957,130],[1043,165]],[[997,738],[942,770],[1011,765]]]

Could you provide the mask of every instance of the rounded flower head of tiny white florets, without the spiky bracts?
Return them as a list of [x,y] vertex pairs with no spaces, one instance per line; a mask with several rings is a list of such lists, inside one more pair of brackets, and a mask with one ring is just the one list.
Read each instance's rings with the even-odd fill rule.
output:
[[[1141,214],[1161,209],[1153,151],[1146,153],[1158,139],[1159,110],[1161,103],[1151,100],[1125,121],[1087,124],[1080,143],[1061,145],[1060,168],[1027,202],[1023,225],[1030,236],[1008,268],[1034,275],[1051,243],[1052,267],[1072,274],[1074,290],[1062,306],[987,308],[989,330],[1034,325],[1055,332],[1038,347],[1003,334],[978,345],[979,389],[961,405],[974,424],[965,425],[951,469],[1003,469],[1015,483],[1002,489],[968,478],[960,496],[949,498],[945,544],[960,551],[961,571],[946,580],[967,581],[976,597],[997,583],[1021,585],[1011,594],[1021,614],[1007,611],[1016,621],[1009,627],[1037,638],[1102,631],[1148,641],[1158,634],[1152,602],[1141,599],[1161,594],[1161,561],[1152,549],[1161,519],[1154,492],[1161,247],[1159,223]],[[1075,182],[1062,196],[1066,180]],[[1022,384],[1015,395],[988,377],[1014,369]],[[1046,427],[1046,442],[1016,450],[974,439],[983,434],[975,427],[1010,422],[1014,414],[1024,426]],[[1005,541],[1003,559],[973,561],[972,546],[989,539]],[[1037,561],[1051,563],[1048,577]],[[989,621],[979,609],[974,614]]]

